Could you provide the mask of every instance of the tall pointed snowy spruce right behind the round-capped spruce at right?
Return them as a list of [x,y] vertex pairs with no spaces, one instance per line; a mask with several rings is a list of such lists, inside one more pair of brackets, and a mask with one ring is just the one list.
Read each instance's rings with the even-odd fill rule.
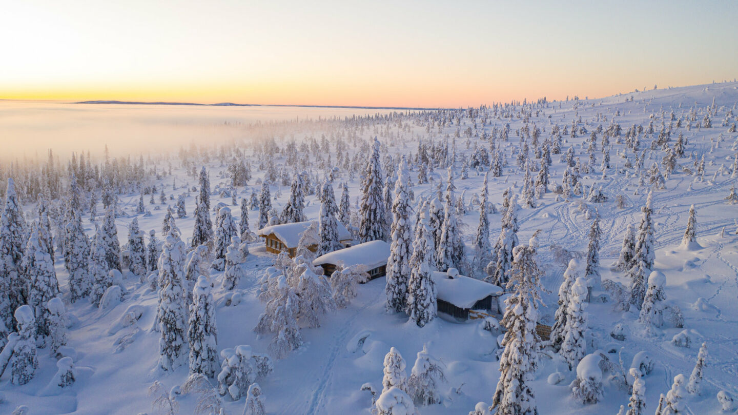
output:
[[651,219],[653,191],[649,191],[646,205],[641,208],[643,218],[638,227],[638,236],[635,239],[635,255],[633,265],[628,272],[630,276],[630,302],[640,307],[646,295],[646,275],[653,267],[655,258],[655,239],[653,236],[653,221]]

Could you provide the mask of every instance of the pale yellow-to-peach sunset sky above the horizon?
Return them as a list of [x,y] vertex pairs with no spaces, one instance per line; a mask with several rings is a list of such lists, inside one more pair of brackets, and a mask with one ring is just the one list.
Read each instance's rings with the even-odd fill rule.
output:
[[21,0],[0,98],[477,106],[738,76],[738,2]]

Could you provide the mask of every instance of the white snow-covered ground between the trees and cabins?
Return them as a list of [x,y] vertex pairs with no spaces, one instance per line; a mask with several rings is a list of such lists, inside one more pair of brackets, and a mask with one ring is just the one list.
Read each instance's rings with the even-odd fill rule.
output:
[[[226,145],[214,145],[203,140],[200,145],[184,145],[182,149],[172,148],[168,154],[145,157],[147,171],[156,167],[160,178],[149,174],[144,185],[156,185],[157,189],[163,187],[167,197],[170,194],[174,196],[173,200],[167,200],[167,205],[175,209],[176,196],[179,193],[186,194],[187,218],[176,218],[176,225],[182,230],[182,239],[189,249],[195,196],[199,194],[198,178],[193,171],[199,174],[203,166],[210,173],[211,206],[220,202],[228,205],[236,223],[241,215],[241,198],[249,199],[252,191],[257,194],[261,191],[261,180],[268,166],[264,166],[265,160],[255,154],[255,148],[261,148],[263,143],[280,150],[273,160],[277,180],[270,186],[272,206],[277,212],[289,199],[294,171],[308,171],[308,176],[314,178],[311,186],[318,187],[329,168],[336,167],[334,191],[337,202],[342,191],[340,184],[346,182],[351,212],[356,215],[362,192],[360,177],[370,159],[371,140],[377,137],[382,145],[385,175],[387,154],[395,157],[389,163],[394,165],[395,171],[396,162],[399,161],[396,156],[407,156],[415,195],[415,202],[411,206],[417,211],[421,205],[419,201],[435,196],[439,184],[441,189],[446,188],[446,164],[443,163],[428,171],[430,183],[418,184],[419,165],[415,160],[418,141],[430,144],[432,140],[438,148],[448,145],[448,156],[444,160],[452,165],[455,195],[464,197],[466,213],[459,219],[463,222],[462,239],[471,262],[474,256],[472,241],[479,223],[479,205],[478,202],[472,203],[472,199],[478,200],[490,164],[487,161],[479,168],[470,165],[463,168],[463,165],[474,160],[472,154],[475,148],[489,151],[488,137],[493,136],[494,145],[502,150],[505,162],[501,176],[489,174],[489,201],[496,207],[495,213],[489,213],[490,239],[494,245],[500,232],[502,214],[499,210],[503,191],[511,188],[516,199],[523,193],[525,169],[517,164],[520,136],[525,137],[525,131],[521,128],[527,125],[528,134],[533,134],[535,125],[540,129],[538,141],[542,143],[548,138],[553,140],[551,133],[554,126],[559,126],[559,131],[565,127],[570,130],[575,122],[576,137],[570,137],[570,131],[562,133],[561,153],[551,154],[550,191],[536,198],[536,207],[523,207],[523,202],[518,202],[518,238],[521,243],[525,244],[539,230],[537,262],[545,272],[542,285],[547,290],[542,293],[545,305],[539,309],[539,322],[551,325],[554,321],[557,293],[564,281],[563,273],[569,258],[580,258],[582,270],[579,275],[583,275],[587,234],[596,212],[599,213],[602,235],[599,251],[601,278],[620,282],[626,289],[630,287],[626,272],[611,270],[610,264],[618,259],[628,225],[633,224],[638,228],[641,207],[652,190],[652,219],[657,248],[654,269],[666,276],[666,299],[663,304],[678,306],[683,314],[683,327],[675,327],[665,317],[666,321],[661,327],[646,331],[644,324],[639,321],[635,306],[631,306],[627,312],[615,311],[614,295],[601,287],[594,287],[591,302],[587,303],[586,308],[590,326],[586,352],[601,351],[617,370],[606,371],[603,375],[604,394],[599,402],[582,404],[573,399],[569,387],[576,378],[576,368],[570,371],[555,351],[543,349],[539,369],[531,374],[529,383],[535,394],[538,413],[618,413],[620,405],[627,406],[631,392],[627,385],[618,383],[615,377],[621,375],[619,371],[627,373],[635,355],[644,351],[638,359],[646,354],[653,364],[652,371],[643,378],[644,413],[652,414],[660,395],[672,388],[675,376],[684,374],[689,378],[692,374],[697,352],[705,342],[708,357],[701,391],[700,394],[687,394],[683,398],[686,403],[683,413],[720,414],[721,404],[716,397],[719,391],[726,391],[729,396],[738,399],[738,204],[733,205],[725,199],[731,193],[731,186],[738,181],[738,171],[735,171],[734,165],[738,153],[738,133],[729,131],[738,122],[737,103],[738,83],[728,82],[631,92],[591,100],[502,104],[497,108],[489,106],[478,111],[397,112],[394,116],[371,118],[266,123],[244,127],[240,130],[240,137]],[[156,108],[146,111],[156,112]],[[215,110],[208,111],[213,117]],[[711,114],[711,127],[698,126],[704,123],[708,113]],[[694,120],[690,120],[693,114]],[[680,122],[678,127],[677,121]],[[614,123],[620,126],[621,132],[619,137],[617,134],[609,137],[611,166],[603,174],[600,168],[603,157],[601,140],[604,132]],[[652,123],[652,133],[648,132],[649,123]],[[501,136],[506,124],[509,124],[509,133],[507,140],[503,140]],[[624,150],[627,130],[633,125],[643,127],[638,134],[638,153]],[[598,131],[598,126],[602,127],[601,131]],[[665,126],[666,131],[671,128],[670,148],[680,134],[687,140],[684,157],[677,158],[677,165],[668,176],[662,165],[665,153],[661,145],[653,149],[651,146],[662,126]],[[111,128],[114,125],[111,124]],[[582,134],[581,128],[586,132]],[[562,183],[568,148],[573,148],[574,157],[579,157],[582,165],[587,164],[587,146],[592,131],[597,131],[596,161],[590,173],[580,172],[580,180],[584,184],[582,193],[573,194],[568,199],[557,195],[554,190],[557,184]],[[52,133],[49,131],[49,134]],[[323,135],[328,151],[320,147]],[[273,140],[266,140],[265,137]],[[296,143],[294,150],[297,160],[289,160],[292,152],[285,151],[293,140]],[[530,146],[530,160],[540,163],[540,159],[534,156],[533,139],[528,137],[526,141]],[[351,156],[350,161],[341,160],[340,165],[331,164],[337,162],[337,142],[345,148],[343,152],[348,151]],[[454,142],[455,161],[452,160]],[[251,166],[252,178],[246,186],[236,188],[237,202],[232,205],[232,197],[221,196],[220,191],[231,183],[227,168],[237,151],[244,152],[245,160]],[[636,156],[641,154],[644,159],[639,168]],[[134,161],[138,157],[139,154],[131,154]],[[704,172],[696,174],[697,163],[702,157]],[[627,161],[633,166],[626,168]],[[659,188],[658,182],[649,182],[647,172],[655,162],[665,176],[663,188]],[[63,181],[66,181],[66,155],[61,156],[60,165],[64,166],[60,171],[63,171]],[[284,182],[283,171],[286,174]],[[534,179],[537,173],[538,168],[531,171]],[[3,174],[3,177],[7,176],[7,169],[4,169]],[[468,178],[463,179],[463,174],[468,174]],[[173,180],[177,190],[172,190]],[[596,189],[601,187],[602,193],[607,196],[606,201],[590,202],[587,199],[593,185]],[[617,206],[618,195],[623,197],[624,207]],[[139,189],[121,193],[118,198],[120,214],[115,223],[122,245],[127,243],[128,224],[134,218],[138,219],[139,227],[147,235],[147,244],[149,230],[156,230],[156,237],[162,241],[161,228],[166,205],[159,202],[159,195],[156,195],[154,204],[150,204],[149,195],[144,196],[145,209],[151,212],[151,216],[136,213]],[[319,219],[320,200],[317,195],[311,193],[305,198],[306,219]],[[682,245],[682,239],[691,205],[697,212],[697,244],[686,247]],[[35,203],[26,201],[24,212],[30,223],[35,218]],[[94,224],[89,221],[89,210],[85,208],[80,213],[86,233],[92,237]],[[98,205],[97,214],[98,220],[102,219],[102,205]],[[391,213],[388,215],[391,220]],[[212,208],[210,217],[215,223]],[[252,232],[258,230],[258,218],[258,210],[249,210]],[[55,227],[52,230],[58,237],[58,230]],[[266,269],[275,263],[276,257],[266,252],[263,241],[251,241],[249,255],[242,264],[244,277],[232,292],[224,291],[221,287],[223,272],[210,270],[210,281],[214,284],[218,351],[249,345],[254,353],[269,353],[272,335],[259,336],[254,328],[265,307],[265,303],[258,298],[261,287],[259,280]],[[373,258],[367,259],[367,263],[373,262]],[[122,301],[111,301],[104,308],[94,306],[87,299],[71,303],[68,275],[61,253],[56,255],[55,270],[63,301],[71,315],[67,347],[63,349],[63,354],[74,360],[75,383],[66,388],[49,387],[54,386],[49,383],[58,370],[58,359],[49,357],[48,349],[38,349],[38,370],[30,383],[13,385],[10,382],[10,368],[0,377],[0,414],[11,414],[19,405],[27,406],[24,414],[28,415],[167,414],[165,410],[152,407],[155,397],[148,395],[149,387],[159,381],[165,392],[170,391],[170,388],[182,385],[189,373],[186,357],[184,364],[174,371],[163,371],[157,365],[160,333],[152,330],[159,298],[157,292],[152,291],[148,282],[140,282],[138,277],[130,275],[125,269]],[[479,279],[486,276],[480,270],[462,273]],[[443,364],[446,382],[438,388],[441,403],[416,404],[419,414],[466,415],[475,410],[477,402],[492,404],[492,395],[500,378],[497,337],[502,332],[483,329],[483,319],[458,321],[441,313],[426,326],[418,327],[404,313],[388,314],[384,306],[385,281],[385,277],[382,277],[359,285],[356,298],[345,308],[328,312],[320,318],[319,327],[307,328],[303,325],[302,346],[289,352],[283,359],[272,357],[274,370],[257,380],[263,392],[267,414],[369,414],[372,397],[361,388],[365,383],[371,383],[379,396],[382,391],[384,356],[390,347],[395,347],[404,357],[408,377],[416,354],[424,346]],[[240,302],[233,301],[235,292],[241,295]],[[602,298],[607,301],[602,302]],[[227,303],[230,305],[227,306]],[[128,312],[140,314],[140,318],[123,323]],[[502,319],[501,315],[494,317]],[[624,335],[624,338],[619,337],[622,340],[610,335],[618,324],[618,329]],[[683,335],[677,336],[680,333]],[[675,336],[682,340],[682,346],[675,344],[680,342],[672,341]],[[683,347],[687,337],[689,347]],[[591,369],[582,368],[582,371]],[[549,376],[555,372],[559,372],[554,376],[559,378],[556,379],[559,382],[549,382],[552,380]],[[217,390],[217,380],[210,379],[210,383]],[[632,377],[628,383],[632,385]],[[179,404],[175,414],[197,413],[196,393],[173,394],[172,397]],[[221,397],[223,413],[242,414],[245,401],[246,397],[234,401],[226,394]],[[489,405],[483,407],[486,406]],[[203,413],[207,414],[208,411]],[[396,412],[400,413],[399,410]]]

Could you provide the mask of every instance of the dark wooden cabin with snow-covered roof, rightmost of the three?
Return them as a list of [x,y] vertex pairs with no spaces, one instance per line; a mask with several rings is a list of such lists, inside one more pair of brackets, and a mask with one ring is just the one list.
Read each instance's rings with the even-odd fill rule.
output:
[[471,310],[497,311],[497,301],[493,298],[503,294],[500,287],[460,275],[455,268],[449,268],[446,272],[431,272],[431,278],[435,282],[439,312],[468,320]]

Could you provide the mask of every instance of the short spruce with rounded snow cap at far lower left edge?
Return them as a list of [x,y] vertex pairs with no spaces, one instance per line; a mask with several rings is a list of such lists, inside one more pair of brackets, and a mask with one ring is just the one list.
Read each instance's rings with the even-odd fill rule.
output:
[[33,379],[38,358],[36,357],[36,319],[33,309],[23,305],[15,310],[15,322],[18,326],[18,340],[13,346],[10,356],[10,383],[25,385]]

